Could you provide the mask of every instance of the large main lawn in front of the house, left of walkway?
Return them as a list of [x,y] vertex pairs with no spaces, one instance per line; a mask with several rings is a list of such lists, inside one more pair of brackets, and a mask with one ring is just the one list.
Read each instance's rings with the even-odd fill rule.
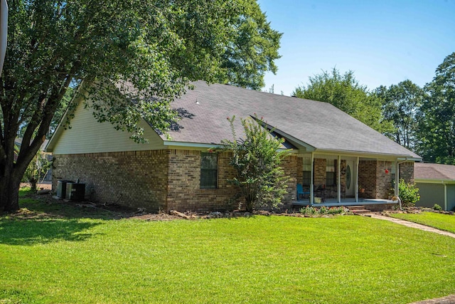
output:
[[115,220],[21,206],[29,216],[0,217],[0,303],[410,303],[455,293],[455,239],[388,221]]

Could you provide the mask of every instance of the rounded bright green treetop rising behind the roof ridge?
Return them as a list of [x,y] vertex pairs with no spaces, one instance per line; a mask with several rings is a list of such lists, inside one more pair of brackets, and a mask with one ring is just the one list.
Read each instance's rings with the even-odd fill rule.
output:
[[365,85],[360,85],[352,70],[343,75],[336,68],[331,72],[323,71],[310,77],[309,84],[297,87],[293,94],[298,98],[331,103],[378,132],[392,128],[382,117],[380,98],[370,93]]

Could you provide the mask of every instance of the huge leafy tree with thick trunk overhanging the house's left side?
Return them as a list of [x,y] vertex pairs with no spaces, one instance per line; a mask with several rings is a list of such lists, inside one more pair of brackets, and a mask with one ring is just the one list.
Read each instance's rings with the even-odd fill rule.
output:
[[11,0],[8,35],[0,211],[18,209],[21,177],[68,88],[90,95],[97,120],[141,140],[140,118],[166,130],[189,80],[261,88],[281,38],[253,0]]

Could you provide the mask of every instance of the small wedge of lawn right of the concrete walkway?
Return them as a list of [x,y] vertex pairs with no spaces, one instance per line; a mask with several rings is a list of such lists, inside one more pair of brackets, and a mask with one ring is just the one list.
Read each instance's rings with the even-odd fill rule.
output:
[[449,214],[439,214],[435,212],[422,212],[420,214],[390,214],[397,219],[414,221],[437,229],[449,231],[455,234],[455,216]]

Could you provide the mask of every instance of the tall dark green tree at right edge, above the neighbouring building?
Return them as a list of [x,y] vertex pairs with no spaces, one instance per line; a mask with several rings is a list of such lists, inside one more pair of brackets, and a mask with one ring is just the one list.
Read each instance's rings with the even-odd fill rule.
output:
[[424,89],[417,153],[428,162],[455,164],[455,53],[444,59]]

